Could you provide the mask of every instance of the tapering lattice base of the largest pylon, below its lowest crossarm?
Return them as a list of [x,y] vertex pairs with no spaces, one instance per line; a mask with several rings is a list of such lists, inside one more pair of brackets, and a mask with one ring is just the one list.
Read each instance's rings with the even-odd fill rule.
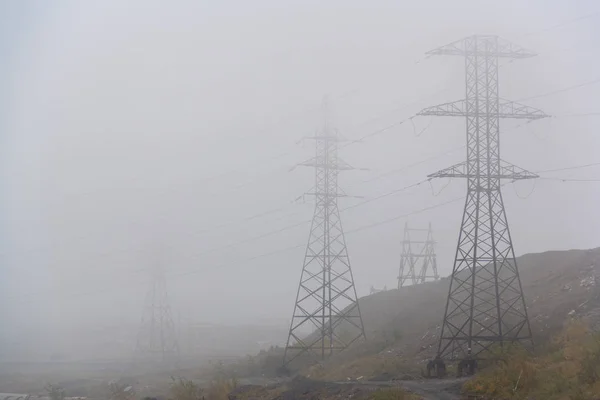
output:
[[477,357],[492,345],[532,340],[502,194],[470,191],[438,355]]

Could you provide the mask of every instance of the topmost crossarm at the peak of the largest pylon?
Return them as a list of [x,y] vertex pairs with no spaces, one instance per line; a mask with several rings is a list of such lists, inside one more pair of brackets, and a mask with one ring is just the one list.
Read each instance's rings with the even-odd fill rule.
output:
[[[494,46],[487,45],[487,43],[493,43],[494,41],[497,41]],[[428,51],[426,54],[430,56],[489,56],[493,54],[495,57],[503,58],[529,58],[536,55],[531,50],[491,35],[469,36]]]

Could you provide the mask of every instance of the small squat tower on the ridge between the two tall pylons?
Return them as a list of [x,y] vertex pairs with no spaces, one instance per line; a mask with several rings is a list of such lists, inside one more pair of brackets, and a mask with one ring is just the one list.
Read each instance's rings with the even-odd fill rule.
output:
[[[411,232],[426,232],[425,240],[414,240]],[[418,271],[417,271],[418,269]],[[402,240],[402,254],[400,255],[400,271],[398,273],[398,289],[406,281],[417,285],[427,280],[437,281],[440,275],[437,272],[437,258],[435,255],[435,241],[431,223],[427,229],[409,228],[408,222],[404,225],[404,238]]]

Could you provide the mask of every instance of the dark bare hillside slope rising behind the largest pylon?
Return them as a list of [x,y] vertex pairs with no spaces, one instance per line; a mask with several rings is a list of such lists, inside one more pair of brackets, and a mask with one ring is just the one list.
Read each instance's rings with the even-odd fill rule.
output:
[[[545,342],[568,315],[600,323],[600,307],[588,302],[600,273],[600,248],[548,251],[518,258],[536,343]],[[373,375],[418,374],[435,355],[449,279],[375,293],[361,298],[368,340],[308,374],[323,379]],[[383,379],[383,377],[382,377]]]

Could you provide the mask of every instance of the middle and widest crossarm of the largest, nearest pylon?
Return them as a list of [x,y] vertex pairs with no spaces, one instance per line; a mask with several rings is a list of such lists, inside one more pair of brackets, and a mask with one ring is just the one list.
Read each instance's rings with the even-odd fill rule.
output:
[[[468,117],[476,116],[477,114],[477,111],[467,112],[467,102],[465,100],[457,100],[449,103],[439,104],[433,107],[427,107],[417,113],[417,115],[422,116],[429,115],[438,117]],[[485,115],[490,115],[490,113],[485,113]],[[498,104],[497,115],[499,118],[530,120],[549,117],[548,114],[538,110],[537,108],[503,99],[501,99]]]

